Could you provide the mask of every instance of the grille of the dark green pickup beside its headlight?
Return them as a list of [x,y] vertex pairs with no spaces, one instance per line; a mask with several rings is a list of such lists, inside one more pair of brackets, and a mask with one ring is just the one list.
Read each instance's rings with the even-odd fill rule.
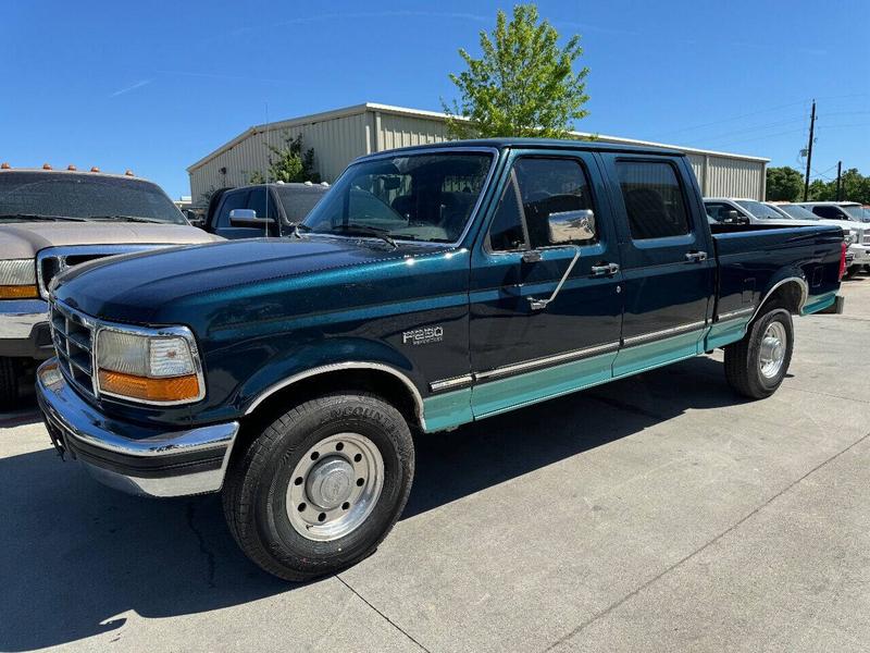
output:
[[51,303],[51,340],[61,371],[83,393],[95,396],[94,323],[82,313]]

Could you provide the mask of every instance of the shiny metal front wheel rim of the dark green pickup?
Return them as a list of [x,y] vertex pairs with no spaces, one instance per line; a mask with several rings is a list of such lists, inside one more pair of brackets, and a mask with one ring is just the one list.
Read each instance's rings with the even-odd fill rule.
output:
[[337,433],[308,449],[287,485],[287,517],[300,535],[328,542],[353,532],[384,489],[384,458],[360,433]]

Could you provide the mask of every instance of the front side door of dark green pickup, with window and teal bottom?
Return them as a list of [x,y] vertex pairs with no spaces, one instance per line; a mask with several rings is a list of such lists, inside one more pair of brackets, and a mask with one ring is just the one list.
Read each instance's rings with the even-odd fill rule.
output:
[[[521,151],[510,165],[472,260],[475,417],[610,379],[622,325],[619,250],[596,156]],[[552,217],[573,211],[594,213],[594,235],[554,244]]]

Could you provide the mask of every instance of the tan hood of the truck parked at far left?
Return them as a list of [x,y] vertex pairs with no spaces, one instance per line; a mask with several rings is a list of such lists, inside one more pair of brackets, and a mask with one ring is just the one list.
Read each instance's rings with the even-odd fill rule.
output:
[[188,245],[221,241],[186,224],[139,222],[0,223],[0,260],[34,258],[40,249],[60,245]]

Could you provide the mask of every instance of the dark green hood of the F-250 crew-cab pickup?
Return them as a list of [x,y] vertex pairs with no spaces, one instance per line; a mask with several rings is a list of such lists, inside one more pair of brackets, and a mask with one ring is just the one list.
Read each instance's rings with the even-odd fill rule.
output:
[[[353,238],[261,238],[171,248],[97,260],[58,278],[54,296],[87,315],[129,323],[167,323],[196,298],[200,307],[256,303],[258,297],[341,283],[365,266],[399,261],[446,247],[401,246]],[[223,301],[223,303],[222,303]]]

